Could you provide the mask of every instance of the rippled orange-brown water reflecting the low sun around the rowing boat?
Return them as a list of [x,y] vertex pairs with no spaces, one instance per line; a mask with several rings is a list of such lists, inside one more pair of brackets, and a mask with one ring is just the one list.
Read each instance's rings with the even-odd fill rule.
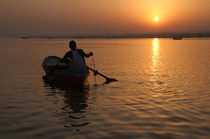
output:
[[[0,39],[0,138],[209,138],[210,39],[80,39],[89,89],[42,80],[68,39]],[[87,59],[92,63],[92,58]]]

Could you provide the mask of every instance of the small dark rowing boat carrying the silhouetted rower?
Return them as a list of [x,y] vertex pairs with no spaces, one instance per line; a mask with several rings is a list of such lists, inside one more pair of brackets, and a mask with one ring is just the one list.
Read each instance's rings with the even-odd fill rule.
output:
[[57,56],[48,56],[42,63],[42,68],[46,72],[44,77],[49,82],[59,82],[70,86],[88,86],[86,74],[72,73],[66,63],[60,62],[61,58]]

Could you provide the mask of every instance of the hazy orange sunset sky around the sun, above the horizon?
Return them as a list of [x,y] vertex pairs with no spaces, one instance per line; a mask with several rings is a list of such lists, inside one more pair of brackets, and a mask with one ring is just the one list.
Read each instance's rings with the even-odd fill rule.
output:
[[210,0],[0,0],[0,36],[206,30]]

